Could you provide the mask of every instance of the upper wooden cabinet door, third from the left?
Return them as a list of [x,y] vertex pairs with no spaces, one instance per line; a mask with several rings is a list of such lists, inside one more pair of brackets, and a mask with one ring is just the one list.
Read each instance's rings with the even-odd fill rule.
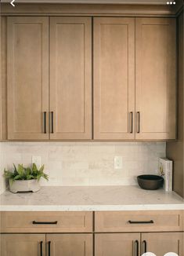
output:
[[135,19],[94,19],[94,138],[134,139]]

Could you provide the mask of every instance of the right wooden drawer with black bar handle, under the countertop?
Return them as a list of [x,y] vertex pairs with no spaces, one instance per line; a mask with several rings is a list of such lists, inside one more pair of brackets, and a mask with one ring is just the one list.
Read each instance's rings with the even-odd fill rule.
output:
[[96,232],[182,231],[182,210],[96,212]]

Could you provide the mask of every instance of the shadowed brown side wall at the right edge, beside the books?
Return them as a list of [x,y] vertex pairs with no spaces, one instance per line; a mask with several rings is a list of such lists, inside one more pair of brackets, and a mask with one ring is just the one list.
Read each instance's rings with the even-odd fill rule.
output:
[[178,120],[178,140],[167,143],[167,155],[174,160],[173,188],[180,196],[184,197],[184,131],[183,131],[183,13],[178,18],[179,24],[179,120]]

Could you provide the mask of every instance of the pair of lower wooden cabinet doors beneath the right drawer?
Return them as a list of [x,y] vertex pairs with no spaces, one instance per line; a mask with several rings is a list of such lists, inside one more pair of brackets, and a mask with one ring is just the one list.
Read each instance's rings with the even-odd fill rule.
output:
[[96,256],[139,256],[145,252],[183,256],[183,232],[96,234]]

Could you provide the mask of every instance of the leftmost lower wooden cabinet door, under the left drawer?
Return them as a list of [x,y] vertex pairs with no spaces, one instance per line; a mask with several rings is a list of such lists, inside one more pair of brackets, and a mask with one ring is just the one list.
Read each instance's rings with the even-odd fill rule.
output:
[[45,256],[45,235],[1,236],[1,256]]

